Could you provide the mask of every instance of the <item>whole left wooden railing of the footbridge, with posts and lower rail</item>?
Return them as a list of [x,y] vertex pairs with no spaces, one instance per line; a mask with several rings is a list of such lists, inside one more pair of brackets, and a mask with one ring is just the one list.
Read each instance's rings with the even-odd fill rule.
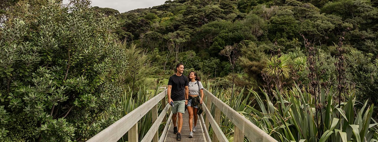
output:
[[[152,99],[143,103],[143,105],[131,111],[129,114],[114,122],[109,127],[102,130],[100,133],[91,137],[89,140],[87,140],[87,142],[117,142],[126,133],[129,135],[129,142],[138,142],[138,121],[149,111],[152,111],[153,124],[141,141],[158,142],[159,126],[163,121],[166,122],[166,114],[167,111],[170,110],[170,105],[168,105],[166,101],[166,96],[167,90],[164,90]],[[158,103],[160,101],[164,109],[161,111],[158,117]],[[168,119],[170,119],[170,117],[172,117],[172,114]],[[167,131],[167,126],[164,128],[164,131]]]

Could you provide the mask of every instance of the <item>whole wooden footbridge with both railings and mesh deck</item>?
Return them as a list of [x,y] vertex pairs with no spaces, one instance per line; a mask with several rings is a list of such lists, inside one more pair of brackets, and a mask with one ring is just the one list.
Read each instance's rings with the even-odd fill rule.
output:
[[[194,133],[193,138],[188,138],[189,135],[189,116],[187,112],[183,115],[183,128],[181,130],[181,141],[187,142],[227,142],[225,134],[219,127],[220,114],[226,116],[232,123],[234,123],[234,142],[244,142],[244,137],[251,142],[277,142],[273,137],[266,134],[259,127],[254,125],[244,116],[237,113],[231,107],[222,102],[222,100],[215,97],[208,90],[204,89],[204,101],[202,103],[203,114],[198,117],[197,132]],[[117,142],[125,133],[128,133],[129,142],[173,142],[176,141],[176,134],[173,133],[173,124],[171,121],[172,112],[170,105],[166,101],[167,90],[162,91],[152,99],[143,103],[135,110],[131,111],[126,116],[122,117],[109,127],[102,130],[100,133],[93,136],[87,142]],[[158,116],[158,103],[162,102],[160,115]],[[211,114],[209,108],[215,105],[215,114]],[[149,111],[152,112],[153,124],[150,130],[146,133],[143,139],[138,138],[138,121],[146,115]],[[167,118],[167,113],[170,113]],[[204,116],[206,117],[204,119]],[[168,121],[167,121],[168,120]],[[159,136],[159,126],[161,123],[167,122],[164,130]],[[209,136],[208,128],[211,125],[213,130],[213,137]]]

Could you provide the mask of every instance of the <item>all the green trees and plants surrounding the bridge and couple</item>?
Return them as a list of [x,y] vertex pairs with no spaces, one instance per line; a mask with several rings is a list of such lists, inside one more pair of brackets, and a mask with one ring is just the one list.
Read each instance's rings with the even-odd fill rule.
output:
[[378,141],[377,0],[90,3],[0,2],[0,141],[84,142],[177,63],[280,142]]

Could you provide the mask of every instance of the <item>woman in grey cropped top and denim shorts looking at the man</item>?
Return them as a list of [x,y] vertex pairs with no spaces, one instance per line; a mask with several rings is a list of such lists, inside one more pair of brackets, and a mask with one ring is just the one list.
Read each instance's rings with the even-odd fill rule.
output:
[[[198,105],[202,104],[203,99],[203,86],[200,82],[200,77],[197,73],[191,71],[188,76],[189,79],[189,100],[186,105],[189,113],[189,137],[193,137],[193,132],[197,131],[197,120],[198,120]],[[200,96],[198,96],[200,94]],[[193,115],[194,114],[194,115]],[[194,116],[194,127],[193,126],[193,116]]]

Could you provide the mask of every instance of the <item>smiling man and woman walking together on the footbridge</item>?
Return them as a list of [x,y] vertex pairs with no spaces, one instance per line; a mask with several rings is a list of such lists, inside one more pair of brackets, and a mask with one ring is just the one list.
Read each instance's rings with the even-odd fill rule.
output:
[[[172,107],[173,132],[177,134],[176,139],[181,140],[180,133],[183,126],[185,107],[187,107],[189,113],[189,137],[193,137],[193,132],[197,131],[197,111],[198,107],[202,104],[203,86],[200,82],[200,78],[194,71],[191,71],[188,77],[183,75],[184,65],[182,63],[178,63],[176,69],[176,74],[169,77],[167,95],[168,103],[174,103],[174,107]],[[199,111],[199,113],[201,113],[201,111]],[[194,127],[192,127],[193,116]],[[176,123],[177,117],[178,123]]]

